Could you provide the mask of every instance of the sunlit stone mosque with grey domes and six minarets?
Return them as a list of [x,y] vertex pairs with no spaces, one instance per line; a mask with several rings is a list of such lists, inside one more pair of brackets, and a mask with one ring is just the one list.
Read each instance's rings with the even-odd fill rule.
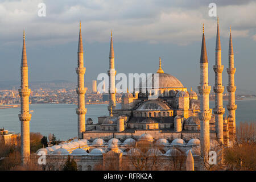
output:
[[[209,93],[211,86],[208,84],[208,57],[205,46],[205,35],[203,25],[203,38],[200,56],[200,85],[197,87],[200,95],[192,89],[188,90],[175,77],[163,71],[161,59],[159,69],[156,71],[159,78],[158,98],[150,100],[148,96],[152,93],[123,93],[122,103],[115,104],[115,68],[113,36],[110,38],[109,54],[109,115],[98,117],[98,122],[93,123],[91,119],[85,122],[85,92],[84,87],[84,50],[82,47],[81,22],[78,46],[78,65],[76,73],[77,83],[77,118],[78,139],[72,142],[64,142],[59,145],[39,149],[36,154],[30,155],[30,135],[27,77],[27,57],[25,38],[23,37],[23,53],[21,64],[21,88],[19,89],[21,100],[21,111],[19,119],[21,122],[21,142],[23,162],[30,156],[38,159],[43,153],[47,156],[48,169],[59,170],[63,167],[67,156],[71,155],[77,162],[79,170],[93,170],[98,163],[104,164],[108,154],[115,154],[118,161],[129,163],[129,156],[138,155],[137,142],[146,141],[154,144],[156,148],[147,151],[149,155],[154,154],[165,163],[177,153],[183,152],[193,159],[193,169],[201,170],[202,157],[207,156],[214,146],[230,146],[236,135],[236,104],[234,85],[234,52],[230,28],[229,38],[229,104],[226,108],[229,116],[224,117],[225,108],[222,102],[222,71],[221,64],[221,42],[220,30],[217,21],[216,35],[216,58],[213,70],[215,72],[215,107],[209,108]],[[153,77],[154,79],[154,77]],[[43,153],[42,153],[43,152]],[[54,161],[54,163],[52,163]],[[50,165],[51,163],[51,165]]]

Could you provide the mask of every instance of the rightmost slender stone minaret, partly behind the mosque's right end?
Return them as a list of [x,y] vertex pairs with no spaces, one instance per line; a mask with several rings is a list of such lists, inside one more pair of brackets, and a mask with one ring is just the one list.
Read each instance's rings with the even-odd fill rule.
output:
[[235,92],[237,87],[234,84],[234,73],[236,72],[236,68],[234,68],[234,51],[232,44],[232,36],[231,36],[231,27],[230,27],[230,37],[229,37],[229,68],[226,69],[229,75],[229,85],[226,89],[229,92],[229,104],[226,105],[226,109],[229,110],[229,115],[233,117],[233,127],[234,127],[234,135],[236,134],[236,109],[237,105],[235,103]]

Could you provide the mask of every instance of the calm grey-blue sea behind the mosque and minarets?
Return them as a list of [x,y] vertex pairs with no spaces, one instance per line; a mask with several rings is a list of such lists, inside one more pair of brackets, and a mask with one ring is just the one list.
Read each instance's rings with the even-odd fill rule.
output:
[[[228,101],[224,101],[224,106]],[[241,121],[256,122],[256,99],[237,100],[236,124]],[[210,101],[210,108],[214,107],[214,101]],[[92,118],[93,123],[98,122],[98,117],[108,115],[108,104],[86,105],[86,119]],[[72,104],[31,104],[33,110],[30,121],[30,131],[39,132],[48,137],[55,134],[60,140],[68,140],[77,136],[77,105]],[[20,107],[0,109],[0,128],[20,133],[20,121],[18,114]],[[226,113],[228,110],[226,109]]]

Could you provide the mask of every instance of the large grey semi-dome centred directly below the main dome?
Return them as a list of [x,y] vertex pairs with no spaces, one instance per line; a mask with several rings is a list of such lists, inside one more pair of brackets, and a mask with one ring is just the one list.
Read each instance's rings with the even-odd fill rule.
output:
[[150,100],[140,105],[137,110],[148,111],[148,110],[171,110],[171,109],[164,102],[161,102],[158,100]]

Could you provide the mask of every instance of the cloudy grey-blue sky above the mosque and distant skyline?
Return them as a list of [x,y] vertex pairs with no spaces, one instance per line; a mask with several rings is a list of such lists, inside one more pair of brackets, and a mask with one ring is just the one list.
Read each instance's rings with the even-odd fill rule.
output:
[[[19,80],[23,29],[30,81],[76,81],[79,20],[85,51],[85,81],[107,72],[110,30],[113,30],[118,73],[154,73],[162,57],[164,72],[185,87],[200,82],[202,24],[209,59],[209,81],[214,85],[216,3],[220,19],[222,64],[228,66],[229,26],[232,26],[236,85],[256,90],[256,2],[168,0],[0,0],[0,81]],[[38,16],[39,3],[46,16]],[[223,83],[228,84],[224,69]]]

